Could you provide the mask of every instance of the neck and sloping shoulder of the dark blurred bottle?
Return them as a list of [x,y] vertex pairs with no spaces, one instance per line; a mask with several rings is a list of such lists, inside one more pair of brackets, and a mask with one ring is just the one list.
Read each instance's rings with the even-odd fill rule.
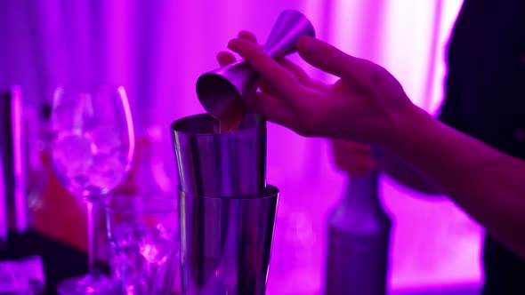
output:
[[379,205],[378,178],[378,172],[373,172],[367,176],[349,177],[343,203],[359,208],[377,207]]

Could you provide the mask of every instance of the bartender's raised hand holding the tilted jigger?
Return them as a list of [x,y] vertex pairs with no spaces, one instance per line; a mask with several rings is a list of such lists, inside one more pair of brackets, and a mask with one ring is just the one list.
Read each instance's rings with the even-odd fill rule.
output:
[[[297,44],[303,60],[340,77],[322,84],[289,60],[272,59],[249,35],[242,32],[228,47],[261,76],[261,92],[249,98],[248,108],[271,122],[303,136],[382,143],[395,140],[400,120],[415,108],[400,83],[373,62],[303,36]],[[235,60],[226,52],[218,59]]]

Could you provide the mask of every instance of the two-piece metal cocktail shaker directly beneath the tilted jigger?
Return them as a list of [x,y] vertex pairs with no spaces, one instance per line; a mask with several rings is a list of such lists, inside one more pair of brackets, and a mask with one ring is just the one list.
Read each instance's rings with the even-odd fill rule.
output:
[[179,171],[182,293],[262,295],[279,189],[266,184],[266,122],[218,133],[210,115],[171,125]]

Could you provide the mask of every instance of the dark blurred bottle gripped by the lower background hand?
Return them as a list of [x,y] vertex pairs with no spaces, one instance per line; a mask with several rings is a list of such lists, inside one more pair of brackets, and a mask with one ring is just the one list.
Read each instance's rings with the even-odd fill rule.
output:
[[329,214],[326,295],[384,295],[392,221],[377,192],[378,172],[348,179]]

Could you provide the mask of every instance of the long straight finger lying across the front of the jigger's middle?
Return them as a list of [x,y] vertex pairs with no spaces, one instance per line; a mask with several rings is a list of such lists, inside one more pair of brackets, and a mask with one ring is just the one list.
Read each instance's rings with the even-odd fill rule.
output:
[[255,44],[245,39],[233,39],[228,47],[250,63],[252,68],[271,85],[271,92],[279,93],[279,96],[285,97],[289,102],[295,102],[304,94],[295,76],[262,52]]

